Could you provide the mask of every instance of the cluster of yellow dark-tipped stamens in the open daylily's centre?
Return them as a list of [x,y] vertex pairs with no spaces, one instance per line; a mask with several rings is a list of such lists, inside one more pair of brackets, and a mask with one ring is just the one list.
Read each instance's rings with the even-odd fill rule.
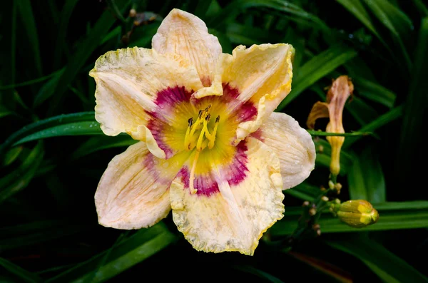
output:
[[213,129],[208,130],[208,123],[210,123],[210,108],[208,105],[204,110],[199,110],[198,119],[193,123],[193,118],[188,120],[188,128],[185,131],[184,147],[186,150],[193,150],[196,148],[198,152],[208,146],[209,149],[214,147],[215,135],[217,134],[218,121],[220,116],[215,118]]

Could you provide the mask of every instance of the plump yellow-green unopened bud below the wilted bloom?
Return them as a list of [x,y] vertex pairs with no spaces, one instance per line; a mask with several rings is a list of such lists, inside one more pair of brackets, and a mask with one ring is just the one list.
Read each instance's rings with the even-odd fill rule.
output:
[[367,200],[348,200],[336,205],[335,211],[342,222],[355,228],[366,227],[379,220],[379,212]]

